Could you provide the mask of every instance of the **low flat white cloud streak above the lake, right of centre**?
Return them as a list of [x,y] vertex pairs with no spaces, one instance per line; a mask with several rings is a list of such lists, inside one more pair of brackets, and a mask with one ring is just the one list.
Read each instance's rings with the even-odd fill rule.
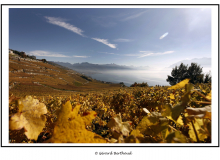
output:
[[166,51],[166,52],[151,52],[151,51],[139,51],[140,53],[137,54],[124,54],[124,56],[134,56],[137,58],[143,58],[148,56],[160,56],[164,54],[171,54],[174,51]]

